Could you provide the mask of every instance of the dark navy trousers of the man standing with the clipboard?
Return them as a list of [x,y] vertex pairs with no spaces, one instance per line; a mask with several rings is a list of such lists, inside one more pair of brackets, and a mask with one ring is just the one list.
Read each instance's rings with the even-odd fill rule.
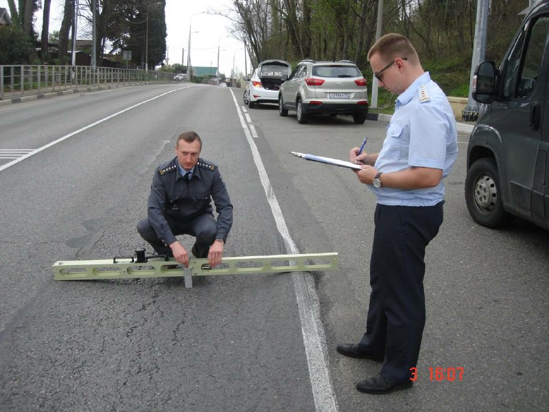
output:
[[358,346],[384,358],[382,376],[410,379],[425,326],[425,247],[439,233],[443,203],[375,208],[366,333]]

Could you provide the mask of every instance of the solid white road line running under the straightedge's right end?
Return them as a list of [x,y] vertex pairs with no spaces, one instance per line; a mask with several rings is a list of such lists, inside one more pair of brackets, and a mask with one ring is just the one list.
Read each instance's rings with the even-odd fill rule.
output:
[[[246,127],[244,116],[242,116],[239,110],[232,89],[231,94],[237,108],[238,117],[240,117],[240,124],[244,129],[244,135],[246,135],[246,139],[252,150],[253,160],[259,172],[259,179],[267,196],[272,216],[274,216],[277,229],[284,240],[286,251],[289,254],[298,254],[299,249],[297,249],[294,240],[290,236],[290,231],[288,231],[288,226],[284,220],[279,202],[277,201],[277,197],[274,196],[267,171],[261,161],[261,156],[259,156],[259,151],[250,135],[250,131]],[[305,344],[305,354],[307,355],[309,379],[311,380],[315,409],[317,412],[336,412],[338,411],[338,406],[329,378],[326,339],[323,325],[320,322],[320,305],[318,303],[318,296],[316,295],[314,280],[312,276],[299,272],[292,273],[292,279],[294,281],[299,317],[301,319],[301,332],[303,333],[303,343]]]

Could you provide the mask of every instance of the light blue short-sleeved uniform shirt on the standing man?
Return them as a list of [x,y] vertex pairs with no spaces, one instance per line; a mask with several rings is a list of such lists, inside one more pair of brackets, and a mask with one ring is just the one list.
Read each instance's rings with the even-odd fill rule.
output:
[[[445,178],[458,155],[457,139],[452,107],[429,72],[425,72],[397,98],[375,168],[384,173],[412,166],[434,168],[443,170]],[[436,187],[425,189],[369,187],[381,205],[433,206],[444,199],[443,180]]]

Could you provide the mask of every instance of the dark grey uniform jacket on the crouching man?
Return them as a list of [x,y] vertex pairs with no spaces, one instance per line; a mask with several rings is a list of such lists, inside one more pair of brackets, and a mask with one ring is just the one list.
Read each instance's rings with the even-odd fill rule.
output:
[[186,222],[201,214],[218,212],[216,239],[226,240],[233,225],[233,205],[218,167],[198,159],[189,183],[178,170],[177,157],[159,166],[152,178],[148,219],[156,236],[166,245],[176,241],[167,219]]

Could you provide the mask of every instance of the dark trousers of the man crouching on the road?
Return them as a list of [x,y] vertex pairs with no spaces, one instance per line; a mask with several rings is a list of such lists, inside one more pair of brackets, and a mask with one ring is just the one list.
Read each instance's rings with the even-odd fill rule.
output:
[[[217,223],[211,214],[202,214],[189,222],[176,221],[169,216],[165,216],[165,219],[174,236],[190,235],[196,237],[197,258],[208,257],[209,248],[215,241],[215,236],[218,233]],[[139,231],[141,238],[151,244],[156,253],[159,255],[167,253],[172,256],[172,249],[166,247],[159,237],[156,236],[148,218],[139,221],[137,231]]]

